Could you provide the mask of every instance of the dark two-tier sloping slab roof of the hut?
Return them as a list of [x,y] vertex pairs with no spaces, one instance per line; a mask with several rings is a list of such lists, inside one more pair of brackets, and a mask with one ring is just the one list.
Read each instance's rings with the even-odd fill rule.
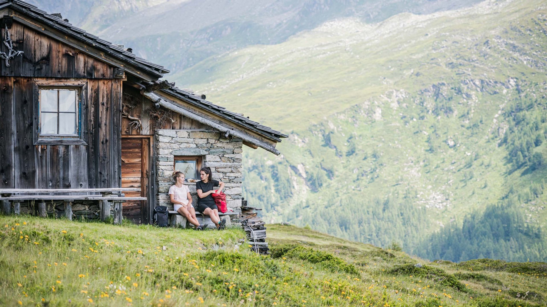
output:
[[[158,79],[169,72],[169,70],[159,64],[152,63],[134,55],[130,49],[120,48],[120,45],[110,43],[107,40],[86,32],[84,29],[73,26],[68,20],[62,19],[60,14],[48,14],[46,11],[40,10],[36,6],[21,0],[0,0],[0,11],[5,9],[13,10],[13,12],[3,13],[4,16],[6,14],[8,16],[13,15],[14,21],[33,27],[37,29],[37,31],[39,30],[50,37],[73,46],[73,48],[82,50],[114,67],[123,68],[125,72],[140,80],[140,82],[138,82],[140,84],[139,86],[148,87],[153,84],[160,84],[161,81],[158,81]],[[28,19],[39,21],[43,23],[44,26],[51,28],[51,30],[46,27],[40,28],[36,23],[30,22]],[[55,31],[62,33],[62,36]],[[71,40],[68,38],[71,38]],[[228,123],[228,125],[214,125],[217,122],[214,122],[216,119],[213,119],[213,117],[210,117],[208,120],[210,123],[213,123],[213,126],[220,128],[221,131],[224,129],[227,134],[230,132],[239,134],[236,136],[242,137],[244,143],[247,141],[247,145],[250,143],[263,147],[276,155],[279,155],[280,152],[275,149],[275,144],[281,142],[281,138],[288,137],[286,134],[261,125],[241,114],[226,110],[224,107],[201,99],[178,87],[161,87],[161,89],[153,92],[159,95],[158,98],[160,96],[169,96],[170,98],[173,98],[163,101],[166,104],[164,107],[168,107],[174,111],[178,110],[178,113],[182,113],[185,110],[183,110],[184,106],[179,104],[180,102],[185,103],[192,108],[199,109],[200,111],[203,111],[203,113],[212,115],[215,118],[218,117]],[[213,119],[213,122],[211,122],[211,119]],[[225,126],[229,128],[225,129]],[[236,126],[243,130],[243,135],[236,132]],[[241,129],[237,130],[241,132]]]

